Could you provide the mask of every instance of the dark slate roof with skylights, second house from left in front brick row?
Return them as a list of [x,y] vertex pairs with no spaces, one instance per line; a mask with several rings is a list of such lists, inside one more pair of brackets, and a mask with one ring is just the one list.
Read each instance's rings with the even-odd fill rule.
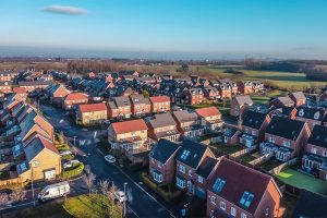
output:
[[[207,146],[202,143],[196,143],[193,141],[183,141],[182,147],[178,152],[177,160],[187,165],[193,169],[196,169],[206,149]],[[184,150],[190,152],[190,154],[185,159],[182,159],[182,154],[184,153]]]

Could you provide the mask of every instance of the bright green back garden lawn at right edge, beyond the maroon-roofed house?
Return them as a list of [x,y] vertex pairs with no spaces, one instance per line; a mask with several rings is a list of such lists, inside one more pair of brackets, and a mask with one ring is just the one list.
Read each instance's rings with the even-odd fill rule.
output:
[[277,174],[277,178],[286,184],[305,189],[311,192],[325,194],[327,193],[327,182],[293,169],[286,169]]

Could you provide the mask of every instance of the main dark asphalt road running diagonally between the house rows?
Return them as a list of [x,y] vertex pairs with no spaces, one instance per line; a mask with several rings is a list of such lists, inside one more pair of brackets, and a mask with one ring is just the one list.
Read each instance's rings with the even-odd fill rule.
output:
[[64,135],[70,138],[71,144],[74,144],[73,138],[75,136],[77,157],[90,167],[92,172],[97,177],[97,181],[107,179],[110,182],[113,182],[120,190],[123,190],[123,184],[128,183],[128,217],[174,217],[166,206],[146,191],[147,187],[145,187],[144,184],[137,183],[121,167],[109,165],[105,161],[105,154],[96,146],[96,144],[99,141],[98,138],[107,133],[106,130],[83,130],[72,125],[70,122],[71,118],[60,109],[55,109],[49,105],[40,105],[40,109],[44,111],[44,114],[49,122],[55,126],[56,131],[62,131]]

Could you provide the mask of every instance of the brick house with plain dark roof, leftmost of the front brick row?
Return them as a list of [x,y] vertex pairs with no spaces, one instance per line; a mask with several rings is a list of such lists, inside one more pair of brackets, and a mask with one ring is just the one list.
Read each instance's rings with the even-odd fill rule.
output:
[[180,146],[160,140],[149,153],[149,174],[158,184],[171,184],[175,178],[175,156]]

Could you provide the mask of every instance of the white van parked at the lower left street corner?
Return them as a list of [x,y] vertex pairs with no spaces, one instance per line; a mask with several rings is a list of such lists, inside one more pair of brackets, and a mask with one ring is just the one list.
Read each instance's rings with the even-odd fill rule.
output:
[[60,182],[57,184],[50,184],[46,186],[38,195],[37,198],[40,202],[53,199],[60,196],[64,196],[70,193],[70,184],[68,182]]

